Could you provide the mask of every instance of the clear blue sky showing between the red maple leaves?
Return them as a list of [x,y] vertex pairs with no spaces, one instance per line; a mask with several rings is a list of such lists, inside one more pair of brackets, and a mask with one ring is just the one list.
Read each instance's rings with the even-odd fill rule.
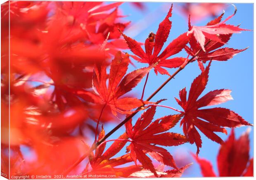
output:
[[[121,9],[123,14],[128,15],[125,19],[131,21],[132,24],[138,23],[139,26],[143,26],[143,30],[139,32],[125,32],[127,35],[133,36],[135,40],[139,42],[144,42],[147,38],[148,34],[152,31],[156,33],[159,23],[164,19],[168,12],[168,8],[171,6],[170,3],[156,3],[156,2],[149,2],[145,3],[147,9],[144,12],[141,12],[130,5],[130,3],[126,2],[121,5]],[[173,16],[171,17],[172,21],[172,29],[169,35],[169,38],[164,47],[168,45],[174,38],[177,38],[180,34],[187,31],[187,19],[181,16],[177,12],[177,3],[174,3],[173,7]],[[164,8],[159,8],[160,6],[164,6]],[[237,7],[237,14],[235,17],[230,19],[227,24],[234,24],[238,25],[241,24],[240,27],[251,29],[253,30],[253,4],[242,4],[237,3],[235,4]],[[153,13],[152,13],[153,12]],[[231,5],[228,5],[228,8],[225,9],[225,17],[228,17],[230,14],[234,12],[234,8]],[[148,15],[149,14],[149,15]],[[221,11],[219,12],[221,14]],[[147,21],[143,22],[141,19],[143,17],[148,17]],[[212,18],[207,18],[203,21],[200,21],[194,25],[205,25],[208,21]],[[145,24],[151,24],[150,26],[145,26]],[[145,27],[145,28],[144,28]],[[141,28],[141,27],[140,27]],[[135,35],[135,36],[134,36]],[[228,60],[227,62],[213,62],[211,65],[211,70],[209,73],[209,82],[206,86],[206,89],[202,93],[205,95],[207,92],[216,89],[230,89],[232,90],[232,97],[234,100],[226,102],[224,104],[220,104],[217,107],[225,107],[237,112],[241,115],[246,121],[249,123],[253,123],[253,31],[244,31],[239,34],[234,34],[231,40],[228,42],[225,47],[233,47],[235,49],[243,49],[248,47],[244,52],[237,54],[232,59]],[[125,52],[131,53],[129,50],[125,50]],[[187,57],[185,52],[181,52],[179,56]],[[140,64],[133,60],[137,68],[146,66],[146,64]],[[135,68],[130,66],[130,71],[133,71]],[[175,69],[168,69],[169,73],[173,73]],[[175,102],[174,97],[178,97],[178,92],[180,89],[186,87],[189,90],[190,85],[195,77],[197,77],[200,73],[200,70],[197,66],[197,63],[194,62],[189,64],[183,71],[178,73],[178,75],[173,79],[170,83],[168,83],[153,99],[152,101],[156,101],[159,99],[167,98],[165,102],[161,104],[171,106],[177,109],[181,109],[179,105]],[[151,95],[154,90],[156,90],[159,85],[161,85],[168,76],[158,75],[156,76],[152,71],[149,74],[149,81],[147,83],[147,87],[145,90],[145,96],[148,97]],[[143,88],[145,79],[142,80],[133,92],[140,97],[141,90]],[[155,118],[159,118],[162,116],[166,116],[169,114],[175,114],[175,111],[171,109],[165,109],[162,107],[157,108],[157,112]],[[134,120],[140,114],[136,115]],[[109,132],[111,128],[114,127],[114,124],[105,127],[106,132]],[[235,129],[236,137],[239,137],[248,127],[240,127]],[[117,138],[123,131],[125,130],[122,127],[116,133],[114,133],[110,139]],[[230,129],[227,128],[228,133],[230,133]],[[179,126],[175,126],[171,129],[172,132],[175,133],[183,133],[182,129]],[[223,140],[226,140],[227,136],[225,134],[218,134]],[[212,142],[204,135],[202,137],[202,148],[200,151],[199,156],[204,157],[210,160],[213,164],[213,168],[215,172],[217,171],[217,164],[216,164],[216,156],[218,154],[219,144]],[[250,133],[250,140],[251,140],[251,151],[250,156],[253,156],[253,127],[251,127]],[[111,143],[108,143],[108,146]],[[179,155],[185,156],[184,154],[189,155],[189,152],[196,152],[195,144],[183,144],[179,147],[168,147],[167,148],[171,153],[175,154],[175,152],[182,152]],[[123,154],[125,151],[122,150],[119,155]],[[193,161],[193,159],[188,159],[188,161]],[[188,171],[183,175],[183,177],[198,177],[201,176],[199,171],[199,167],[197,163],[194,163],[191,168],[192,171]]]

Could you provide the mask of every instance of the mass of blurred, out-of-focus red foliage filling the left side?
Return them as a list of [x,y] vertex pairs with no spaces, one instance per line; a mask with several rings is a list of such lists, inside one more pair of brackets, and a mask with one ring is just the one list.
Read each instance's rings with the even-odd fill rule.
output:
[[[102,109],[91,89],[94,65],[127,47],[119,39],[118,28],[123,31],[129,24],[121,21],[121,4],[11,1],[1,5],[4,112],[9,100],[10,40],[10,127],[8,114],[2,113],[2,151],[7,149],[9,128],[11,175],[59,174],[88,150],[82,140],[90,137],[90,131],[95,133],[94,121]],[[102,122],[116,121],[108,108],[103,116]],[[36,153],[33,162],[24,161],[21,144]],[[2,156],[2,163],[6,158]]]

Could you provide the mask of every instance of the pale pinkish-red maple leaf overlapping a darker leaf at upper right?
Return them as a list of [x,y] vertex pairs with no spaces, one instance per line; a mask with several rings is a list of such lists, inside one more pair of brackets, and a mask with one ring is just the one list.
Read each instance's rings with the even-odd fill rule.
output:
[[237,12],[237,8],[235,7],[234,14],[227,17],[224,21],[218,22],[218,23],[212,23],[208,24],[206,26],[192,26],[190,31],[187,32],[187,35],[193,34],[194,38],[197,40],[201,48],[206,51],[204,48],[206,38],[217,41],[219,43],[225,44],[223,42],[219,35],[221,34],[232,34],[232,33],[240,33],[241,31],[249,31],[247,29],[239,28],[238,26],[225,24],[226,21],[228,21],[230,18],[232,18],[235,13]]

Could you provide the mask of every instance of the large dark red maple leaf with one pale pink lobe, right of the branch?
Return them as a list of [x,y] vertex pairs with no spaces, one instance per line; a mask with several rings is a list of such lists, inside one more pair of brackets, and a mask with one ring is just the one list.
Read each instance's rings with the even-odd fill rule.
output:
[[[198,99],[199,95],[204,91],[209,77],[209,69],[211,62],[191,84],[190,92],[187,99],[186,88],[180,90],[180,100],[175,98],[178,104],[184,109],[183,119],[180,126],[183,125],[183,132],[188,141],[197,145],[197,154],[201,147],[201,137],[195,127],[197,127],[206,137],[222,143],[223,140],[214,132],[227,134],[223,127],[239,127],[242,125],[251,125],[234,111],[225,108],[199,109],[205,106],[221,104],[232,99],[231,90],[214,90]],[[197,100],[198,99],[198,100]],[[204,119],[205,121],[201,120]],[[208,122],[207,122],[208,121]]]

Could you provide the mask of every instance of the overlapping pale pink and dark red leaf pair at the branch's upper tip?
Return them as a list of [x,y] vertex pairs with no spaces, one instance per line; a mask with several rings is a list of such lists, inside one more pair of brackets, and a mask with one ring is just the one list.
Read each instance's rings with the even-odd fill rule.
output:
[[[185,50],[188,54],[194,57],[193,61],[198,61],[199,68],[202,71],[204,71],[202,62],[206,63],[206,61],[209,60],[227,61],[237,53],[248,48],[242,50],[230,47],[219,48],[228,43],[233,33],[245,31],[245,29],[239,28],[238,26],[224,24],[224,22],[233,17],[235,13],[221,22],[223,15],[224,12],[220,14],[219,17],[216,17],[216,19],[207,23],[206,26],[201,27],[191,26],[189,17],[188,34],[193,33],[194,36],[191,37],[189,42],[190,47],[186,46]],[[200,51],[201,48],[203,51]]]

